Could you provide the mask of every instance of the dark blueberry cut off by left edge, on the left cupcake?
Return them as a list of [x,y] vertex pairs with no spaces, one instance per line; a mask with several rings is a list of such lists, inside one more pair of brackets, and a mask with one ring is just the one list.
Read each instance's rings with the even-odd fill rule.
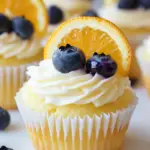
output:
[[12,22],[8,17],[0,13],[0,34],[4,32],[11,32]]

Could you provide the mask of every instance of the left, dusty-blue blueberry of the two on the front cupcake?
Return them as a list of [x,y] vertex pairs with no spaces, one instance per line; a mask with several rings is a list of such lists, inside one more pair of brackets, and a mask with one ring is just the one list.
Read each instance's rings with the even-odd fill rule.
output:
[[79,48],[67,44],[60,47],[52,57],[55,68],[61,73],[69,73],[85,67],[85,56]]

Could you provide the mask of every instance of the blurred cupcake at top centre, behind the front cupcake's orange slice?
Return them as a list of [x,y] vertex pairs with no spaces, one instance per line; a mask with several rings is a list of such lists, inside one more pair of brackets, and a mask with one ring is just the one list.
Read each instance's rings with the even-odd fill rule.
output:
[[[70,18],[86,15],[91,15],[92,1],[91,0],[44,0],[48,9],[49,27],[42,45],[45,46],[49,36],[58,27],[60,23]],[[93,13],[93,12],[92,12]]]

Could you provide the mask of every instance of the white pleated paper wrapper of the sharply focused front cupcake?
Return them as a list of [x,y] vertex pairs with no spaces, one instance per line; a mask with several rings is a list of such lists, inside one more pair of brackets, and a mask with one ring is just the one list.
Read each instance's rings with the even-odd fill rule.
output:
[[37,113],[24,107],[19,99],[17,105],[36,150],[118,150],[136,101],[115,113],[83,118]]

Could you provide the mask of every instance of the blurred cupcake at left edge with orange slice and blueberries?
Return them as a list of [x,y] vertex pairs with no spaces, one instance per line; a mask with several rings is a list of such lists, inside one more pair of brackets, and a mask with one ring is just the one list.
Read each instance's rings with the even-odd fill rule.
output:
[[[32,15],[29,9],[33,10]],[[17,108],[14,96],[26,80],[26,68],[42,59],[40,40],[46,24],[46,8],[40,1],[27,0],[25,5],[19,0],[1,1],[0,107]]]

